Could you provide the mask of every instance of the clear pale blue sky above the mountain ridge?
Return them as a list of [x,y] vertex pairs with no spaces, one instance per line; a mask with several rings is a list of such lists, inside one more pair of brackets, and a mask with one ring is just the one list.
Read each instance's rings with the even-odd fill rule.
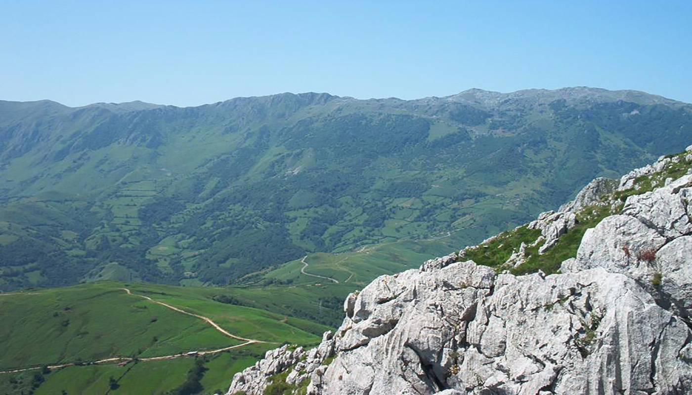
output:
[[692,102],[692,1],[4,1],[0,99],[598,86]]

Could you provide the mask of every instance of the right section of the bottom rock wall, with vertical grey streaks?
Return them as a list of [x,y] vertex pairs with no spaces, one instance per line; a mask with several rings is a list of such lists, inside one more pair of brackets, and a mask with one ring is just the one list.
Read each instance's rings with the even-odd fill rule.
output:
[[501,275],[495,286],[469,324],[469,347],[450,387],[471,394],[669,394],[691,383],[689,364],[662,351],[682,349],[689,329],[624,275],[602,268]]

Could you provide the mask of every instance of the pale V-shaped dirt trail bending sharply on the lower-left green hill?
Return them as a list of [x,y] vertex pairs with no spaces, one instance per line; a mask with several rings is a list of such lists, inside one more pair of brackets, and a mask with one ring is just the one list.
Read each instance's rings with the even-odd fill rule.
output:
[[[336,280],[335,280],[336,281]],[[190,313],[188,311],[185,311],[183,309],[179,309],[176,306],[171,306],[170,304],[164,303],[164,302],[159,302],[158,300],[153,300],[151,297],[144,296],[144,295],[136,295],[132,293],[128,288],[118,288],[122,289],[123,291],[127,292],[128,295],[136,296],[136,297],[142,297],[143,299],[149,300],[149,302],[156,303],[156,304],[161,304],[161,306],[165,306],[168,309],[175,310],[179,313],[187,314],[187,315],[192,315],[192,317],[199,318],[201,320],[206,321],[208,324],[210,324],[214,329],[217,331],[223,333],[225,336],[228,336],[229,338],[234,338],[237,340],[244,340],[244,343],[240,345],[235,345],[235,346],[230,346],[230,347],[224,347],[222,349],[213,349],[213,350],[196,350],[196,351],[188,351],[186,353],[176,353],[176,354],[171,354],[167,356],[154,356],[154,357],[149,357],[149,358],[129,358],[129,357],[113,357],[113,358],[106,358],[106,359],[101,359],[101,360],[95,360],[91,362],[83,362],[83,365],[98,365],[102,363],[109,363],[109,362],[130,362],[130,361],[152,361],[152,360],[166,360],[166,359],[174,359],[174,358],[182,358],[186,356],[201,356],[201,355],[206,355],[206,354],[212,354],[212,353],[220,353],[222,351],[227,351],[230,349],[236,349],[238,347],[243,347],[246,345],[252,345],[254,343],[265,343],[265,344],[278,344],[275,342],[265,342],[264,340],[257,340],[257,339],[248,339],[248,338],[243,338],[241,336],[236,336],[233,333],[230,333],[226,331],[226,329],[223,329],[219,327],[219,324],[214,322],[211,318],[205,317],[204,315],[199,315],[199,314],[194,314]],[[0,295],[37,295],[37,293],[3,293]],[[69,366],[75,366],[75,363],[64,363],[61,365],[48,365],[48,369],[60,369],[61,367],[69,367]],[[20,371],[28,371],[28,370],[37,370],[37,369],[43,369],[42,367],[24,367],[24,368],[19,368],[19,369],[9,369],[9,370],[3,370],[0,371],[0,374],[6,374],[6,373],[19,373]]]

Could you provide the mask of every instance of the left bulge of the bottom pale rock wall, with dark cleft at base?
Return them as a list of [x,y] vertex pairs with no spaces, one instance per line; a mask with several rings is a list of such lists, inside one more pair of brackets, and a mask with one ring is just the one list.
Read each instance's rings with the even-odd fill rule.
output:
[[495,272],[473,262],[407,270],[358,294],[336,332],[337,357],[312,392],[419,394],[445,389],[453,352]]

